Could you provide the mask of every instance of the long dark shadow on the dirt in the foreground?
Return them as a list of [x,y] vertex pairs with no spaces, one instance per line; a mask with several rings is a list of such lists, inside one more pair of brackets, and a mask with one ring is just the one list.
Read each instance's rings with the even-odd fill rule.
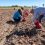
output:
[[29,37],[32,37],[32,36],[35,36],[36,34],[38,33],[38,31],[36,30],[36,28],[33,28],[31,30],[29,30],[28,28],[25,29],[25,31],[23,30],[16,30],[14,31],[13,33],[9,34],[6,36],[6,39],[10,38],[12,35],[18,35],[18,36],[29,36]]

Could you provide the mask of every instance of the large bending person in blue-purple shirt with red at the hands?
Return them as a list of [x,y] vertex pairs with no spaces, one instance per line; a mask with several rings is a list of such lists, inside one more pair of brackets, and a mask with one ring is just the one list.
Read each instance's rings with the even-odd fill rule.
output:
[[33,21],[37,29],[42,29],[44,31],[44,28],[41,24],[41,20],[44,19],[45,21],[45,8],[39,7],[32,9],[30,13],[33,14]]

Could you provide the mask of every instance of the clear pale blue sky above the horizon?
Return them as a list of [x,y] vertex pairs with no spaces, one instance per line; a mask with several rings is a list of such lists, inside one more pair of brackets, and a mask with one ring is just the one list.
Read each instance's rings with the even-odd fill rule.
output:
[[0,0],[0,6],[39,6],[42,7],[42,4],[45,4],[45,0]]

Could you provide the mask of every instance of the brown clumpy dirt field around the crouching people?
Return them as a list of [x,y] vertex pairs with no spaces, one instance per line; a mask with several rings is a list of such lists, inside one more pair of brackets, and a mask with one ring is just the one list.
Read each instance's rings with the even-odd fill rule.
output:
[[26,17],[26,21],[20,22],[17,27],[16,24],[7,23],[13,12],[13,9],[0,9],[0,45],[45,45],[45,32],[31,31],[35,30],[32,29],[32,15]]

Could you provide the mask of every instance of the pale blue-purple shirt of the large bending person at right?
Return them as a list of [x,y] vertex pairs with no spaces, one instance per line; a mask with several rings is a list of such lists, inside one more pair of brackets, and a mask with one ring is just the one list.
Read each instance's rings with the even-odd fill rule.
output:
[[38,19],[38,17],[43,14],[44,15],[44,19],[45,19],[45,8],[44,7],[39,7],[34,9],[34,16],[33,16],[33,21]]

